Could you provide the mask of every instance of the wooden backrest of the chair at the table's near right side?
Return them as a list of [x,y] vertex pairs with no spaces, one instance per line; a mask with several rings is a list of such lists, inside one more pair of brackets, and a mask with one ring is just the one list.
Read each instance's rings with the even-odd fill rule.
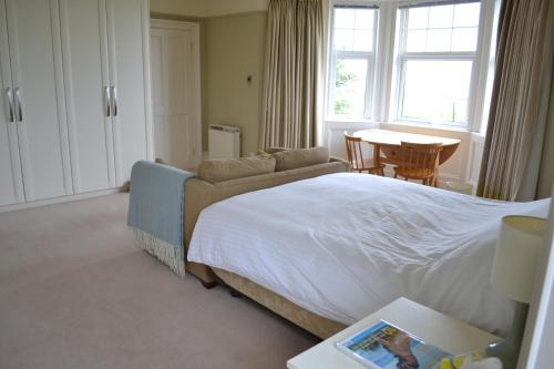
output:
[[400,144],[399,166],[421,171],[423,175],[428,171],[437,171],[439,167],[439,154],[442,150],[442,143],[420,144],[402,142]]

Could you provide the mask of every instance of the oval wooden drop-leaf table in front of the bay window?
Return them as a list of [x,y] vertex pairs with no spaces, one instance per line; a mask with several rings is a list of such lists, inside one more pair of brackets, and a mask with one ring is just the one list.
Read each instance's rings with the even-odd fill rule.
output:
[[[377,165],[379,165],[380,163],[398,164],[399,148],[402,141],[423,144],[442,143],[442,151],[439,155],[439,165],[441,165],[454,154],[461,142],[458,139],[428,136],[425,134],[404,133],[377,129],[357,131],[352,135],[355,137],[360,137],[362,141],[369,142],[370,144],[373,144],[373,161],[375,163],[377,163]],[[384,156],[381,156],[380,153],[382,153]]]

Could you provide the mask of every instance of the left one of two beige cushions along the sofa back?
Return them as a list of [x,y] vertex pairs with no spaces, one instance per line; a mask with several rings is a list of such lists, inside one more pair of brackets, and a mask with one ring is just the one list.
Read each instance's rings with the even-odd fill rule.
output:
[[275,172],[275,157],[261,154],[240,158],[211,158],[198,165],[197,176],[217,183]]

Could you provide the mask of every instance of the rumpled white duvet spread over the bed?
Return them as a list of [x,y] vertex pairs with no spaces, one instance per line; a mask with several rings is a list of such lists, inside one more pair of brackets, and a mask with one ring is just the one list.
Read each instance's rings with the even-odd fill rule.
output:
[[548,204],[330,174],[205,208],[188,260],[236,273],[347,325],[404,296],[503,334],[513,303],[489,283],[500,221],[546,217]]

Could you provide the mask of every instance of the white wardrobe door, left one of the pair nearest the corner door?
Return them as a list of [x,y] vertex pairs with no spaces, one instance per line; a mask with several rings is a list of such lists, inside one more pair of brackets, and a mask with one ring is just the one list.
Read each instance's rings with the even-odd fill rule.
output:
[[60,0],[60,21],[73,188],[83,193],[113,187],[104,3]]

